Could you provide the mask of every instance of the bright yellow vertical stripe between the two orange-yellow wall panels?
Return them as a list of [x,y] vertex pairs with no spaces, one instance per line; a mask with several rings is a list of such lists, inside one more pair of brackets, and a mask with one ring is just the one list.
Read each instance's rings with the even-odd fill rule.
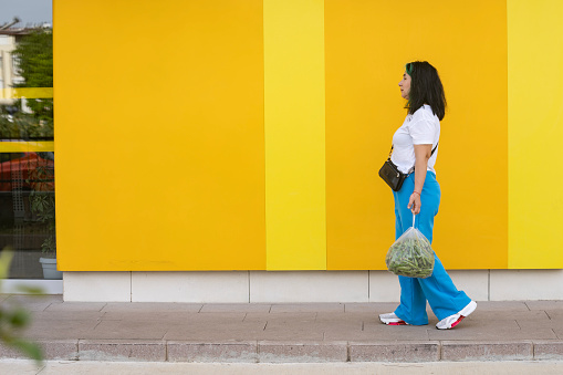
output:
[[324,1],[264,0],[268,270],[325,270]]

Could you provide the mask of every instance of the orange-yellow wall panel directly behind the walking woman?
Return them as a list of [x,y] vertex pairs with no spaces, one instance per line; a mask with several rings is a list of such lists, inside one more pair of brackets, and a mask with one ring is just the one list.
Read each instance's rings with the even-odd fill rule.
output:
[[438,69],[449,104],[434,248],[450,269],[505,268],[505,1],[326,0],[325,41],[327,268],[385,269],[394,204],[377,171],[406,115],[397,83],[414,60]]

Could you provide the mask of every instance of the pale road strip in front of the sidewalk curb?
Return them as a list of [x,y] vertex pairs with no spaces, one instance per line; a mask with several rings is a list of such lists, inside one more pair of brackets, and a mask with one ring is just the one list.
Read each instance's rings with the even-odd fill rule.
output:
[[553,375],[561,361],[425,362],[425,363],[187,363],[0,360],[2,375],[189,374],[189,375]]

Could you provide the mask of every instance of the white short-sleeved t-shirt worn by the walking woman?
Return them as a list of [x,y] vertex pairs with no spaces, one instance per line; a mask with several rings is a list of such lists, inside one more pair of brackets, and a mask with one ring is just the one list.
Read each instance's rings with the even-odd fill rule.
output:
[[[399,168],[400,171],[407,174],[415,166],[415,146],[414,145],[432,145],[436,147],[440,139],[440,121],[432,113],[432,108],[425,104],[414,114],[407,115],[403,125],[393,135],[393,155],[390,160]],[[428,160],[427,170],[434,170],[438,148],[434,152]]]

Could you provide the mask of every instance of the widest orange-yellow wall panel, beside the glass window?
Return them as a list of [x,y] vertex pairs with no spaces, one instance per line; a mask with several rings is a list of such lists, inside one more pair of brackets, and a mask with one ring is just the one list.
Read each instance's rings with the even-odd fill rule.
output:
[[54,2],[59,268],[265,268],[261,0]]

